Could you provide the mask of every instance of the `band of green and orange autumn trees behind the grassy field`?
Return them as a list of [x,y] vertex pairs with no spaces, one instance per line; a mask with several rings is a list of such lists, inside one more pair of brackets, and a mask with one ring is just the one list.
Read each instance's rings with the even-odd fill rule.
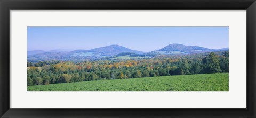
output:
[[105,79],[128,79],[229,71],[228,51],[135,60],[39,61],[27,63],[27,84],[44,85]]

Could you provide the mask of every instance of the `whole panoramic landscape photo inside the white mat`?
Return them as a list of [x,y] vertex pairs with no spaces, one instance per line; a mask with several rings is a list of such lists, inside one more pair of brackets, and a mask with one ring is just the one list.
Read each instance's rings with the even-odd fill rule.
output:
[[28,91],[228,91],[229,27],[27,27]]

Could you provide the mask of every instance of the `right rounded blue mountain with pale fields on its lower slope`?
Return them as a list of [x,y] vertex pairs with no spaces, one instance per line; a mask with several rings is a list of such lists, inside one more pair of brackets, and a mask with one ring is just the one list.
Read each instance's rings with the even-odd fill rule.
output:
[[157,54],[186,54],[186,53],[204,53],[204,52],[212,52],[216,51],[213,49],[208,49],[204,47],[198,46],[185,46],[183,44],[169,44],[168,46],[152,51],[150,53],[157,53]]

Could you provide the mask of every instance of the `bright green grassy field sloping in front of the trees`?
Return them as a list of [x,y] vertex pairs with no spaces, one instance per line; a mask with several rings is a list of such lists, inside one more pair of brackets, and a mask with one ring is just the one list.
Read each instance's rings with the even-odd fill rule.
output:
[[28,91],[228,91],[228,73],[83,81],[28,86]]

